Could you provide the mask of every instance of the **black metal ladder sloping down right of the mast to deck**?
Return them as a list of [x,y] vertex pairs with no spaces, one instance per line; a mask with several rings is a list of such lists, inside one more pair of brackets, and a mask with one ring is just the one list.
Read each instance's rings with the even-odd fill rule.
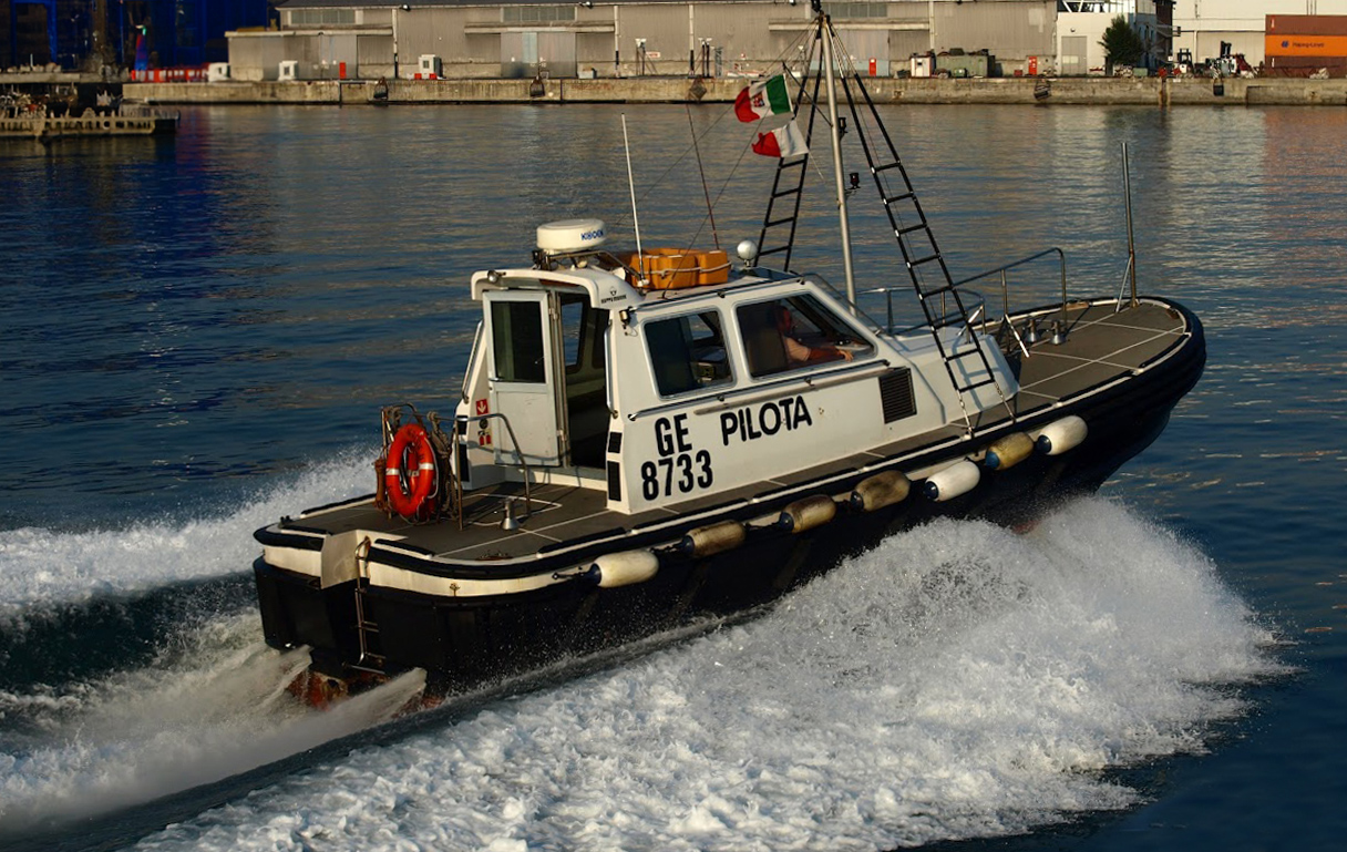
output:
[[[940,359],[944,361],[950,384],[959,399],[963,422],[971,431],[973,421],[968,415],[971,394],[978,388],[989,386],[997,390],[1001,404],[1006,406],[1013,418],[1014,410],[995,380],[991,369],[991,359],[987,357],[982,340],[973,332],[974,317],[968,313],[963,294],[950,276],[950,268],[946,266],[944,256],[935,241],[935,235],[927,222],[925,212],[921,209],[921,201],[912,187],[912,181],[908,178],[908,171],[904,169],[901,158],[898,158],[893,139],[889,136],[889,129],[880,120],[878,111],[874,108],[874,101],[870,100],[870,93],[861,81],[859,73],[853,70],[850,78],[865,98],[870,119],[884,139],[884,150],[877,151],[872,147],[872,140],[862,131],[865,125],[861,123],[855,98],[851,97],[847,75],[841,74],[838,82],[842,84],[842,89],[846,93],[846,102],[851,109],[853,127],[857,128],[857,136],[861,140],[861,147],[865,150],[870,177],[874,178],[874,186],[884,202],[884,212],[889,216],[889,225],[893,228],[893,237],[898,243],[904,266],[908,270],[908,276],[912,279],[912,287],[916,290],[917,302],[921,303],[921,311],[925,314],[927,325],[931,328],[932,337],[935,337]],[[886,156],[886,159],[876,162],[878,156]],[[888,181],[890,173],[898,178],[894,182],[897,186],[892,189]],[[959,329],[959,334],[954,337],[952,342],[940,334],[942,330],[948,328]],[[971,345],[960,348],[964,338]]]

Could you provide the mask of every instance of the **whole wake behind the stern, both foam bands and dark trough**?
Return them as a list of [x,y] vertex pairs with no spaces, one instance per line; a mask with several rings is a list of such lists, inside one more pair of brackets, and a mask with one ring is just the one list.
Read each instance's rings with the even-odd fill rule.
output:
[[[217,518],[0,539],[0,841],[114,812],[365,729],[416,678],[337,713],[284,694],[308,662],[261,640],[252,531],[368,488],[368,452]],[[391,705],[391,706],[389,706]]]

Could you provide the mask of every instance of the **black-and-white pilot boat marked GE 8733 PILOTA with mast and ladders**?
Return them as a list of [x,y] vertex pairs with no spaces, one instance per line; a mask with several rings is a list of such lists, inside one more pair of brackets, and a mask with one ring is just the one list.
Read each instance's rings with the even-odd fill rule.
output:
[[[481,325],[453,417],[385,408],[374,493],[255,534],[265,639],[310,648],[298,693],[422,669],[445,694],[714,624],[932,518],[1030,523],[1160,434],[1203,369],[1197,318],[1138,297],[1134,274],[1130,293],[1070,297],[1057,249],[954,282],[815,20],[810,135],[824,108],[838,128],[839,100],[878,128],[862,147],[905,278],[878,298],[915,295],[925,321],[858,306],[841,179],[846,293],[791,270],[808,152],[780,159],[733,260],[543,224],[528,263],[471,276]],[[832,152],[841,174],[835,132]],[[1012,310],[1009,272],[1053,257],[1060,301]]]

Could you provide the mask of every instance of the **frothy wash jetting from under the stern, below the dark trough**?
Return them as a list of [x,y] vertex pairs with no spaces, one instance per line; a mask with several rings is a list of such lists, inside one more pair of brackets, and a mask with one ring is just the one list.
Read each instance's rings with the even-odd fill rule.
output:
[[256,616],[221,617],[155,665],[61,694],[0,693],[35,733],[0,751],[0,836],[147,802],[280,760],[387,720],[424,685],[407,675],[342,704],[284,694],[307,651],[261,644]]

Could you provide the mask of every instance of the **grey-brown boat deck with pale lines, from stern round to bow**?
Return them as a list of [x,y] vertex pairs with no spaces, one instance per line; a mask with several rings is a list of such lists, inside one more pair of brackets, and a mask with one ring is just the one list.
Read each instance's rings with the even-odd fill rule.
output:
[[[1126,376],[1179,345],[1189,330],[1183,314],[1162,303],[1141,302],[1123,311],[1117,311],[1111,302],[1076,303],[1067,309],[1067,340],[1053,344],[1047,325],[1060,317],[1060,310],[1040,317],[1044,338],[1028,346],[1028,357],[1024,357],[1013,340],[1009,341],[1020,392],[1009,398],[1005,406],[983,411],[974,422],[975,430],[994,429],[1012,419],[1012,413],[1016,418],[1032,415],[1059,400]],[[989,329],[994,330],[997,329]],[[680,503],[676,508],[659,508],[637,515],[609,511],[602,491],[558,484],[533,485],[532,512],[527,514],[524,487],[508,483],[465,495],[462,530],[454,520],[414,526],[400,518],[389,519],[374,508],[372,500],[314,510],[287,526],[326,534],[362,530],[405,537],[405,543],[451,561],[527,558],[546,554],[563,542],[574,545],[577,539],[657,526],[676,518],[687,519],[688,515],[734,503],[748,507],[756,497],[783,488],[855,470],[944,441],[956,441],[966,434],[967,429],[960,422],[807,470],[785,473],[735,492],[721,492],[714,497]],[[501,527],[506,503],[513,503],[515,516],[521,522],[513,531]]]

